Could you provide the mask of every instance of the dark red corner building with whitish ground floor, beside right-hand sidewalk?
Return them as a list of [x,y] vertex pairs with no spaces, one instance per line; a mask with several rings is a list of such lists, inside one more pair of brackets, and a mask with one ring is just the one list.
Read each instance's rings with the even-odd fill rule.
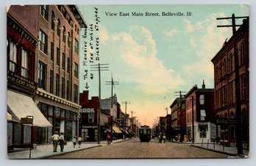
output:
[[186,134],[190,140],[194,138],[194,142],[213,142],[216,139],[214,89],[205,88],[205,82],[202,88],[194,86],[185,95],[185,102]]

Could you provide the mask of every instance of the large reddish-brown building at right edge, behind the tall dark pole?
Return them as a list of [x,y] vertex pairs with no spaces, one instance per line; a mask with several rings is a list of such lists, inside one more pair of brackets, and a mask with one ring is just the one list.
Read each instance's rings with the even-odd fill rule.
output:
[[[238,66],[235,65],[234,38]],[[243,148],[249,147],[249,20],[235,32],[212,59],[214,65],[214,110],[221,142],[236,145],[235,125],[241,120]],[[241,117],[236,117],[235,69],[239,72]],[[238,106],[239,107],[239,106]]]

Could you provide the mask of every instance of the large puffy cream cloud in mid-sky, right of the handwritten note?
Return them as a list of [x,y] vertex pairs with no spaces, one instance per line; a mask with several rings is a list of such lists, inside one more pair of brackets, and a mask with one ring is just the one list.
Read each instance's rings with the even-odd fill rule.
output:
[[183,82],[179,73],[157,59],[156,43],[144,26],[131,26],[129,32],[109,35],[102,48],[106,49],[104,52],[111,52],[111,57],[107,57],[109,54],[105,57],[111,58],[115,76],[120,77],[121,82],[133,83],[134,88],[143,93],[166,93]]

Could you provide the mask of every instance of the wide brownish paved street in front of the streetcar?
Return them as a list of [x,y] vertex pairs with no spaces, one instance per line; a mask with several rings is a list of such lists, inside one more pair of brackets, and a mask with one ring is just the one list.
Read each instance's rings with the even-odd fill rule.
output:
[[157,141],[140,142],[137,138],[112,145],[103,145],[101,147],[52,156],[51,159],[220,159],[230,157],[226,154],[207,151],[188,144],[175,142],[158,143]]

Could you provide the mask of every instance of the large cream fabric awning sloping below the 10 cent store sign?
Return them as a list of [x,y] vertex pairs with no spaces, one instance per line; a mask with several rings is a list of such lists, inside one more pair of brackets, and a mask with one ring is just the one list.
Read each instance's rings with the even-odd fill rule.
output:
[[19,121],[26,116],[33,116],[33,126],[52,126],[29,96],[7,90],[7,107],[8,112]]

